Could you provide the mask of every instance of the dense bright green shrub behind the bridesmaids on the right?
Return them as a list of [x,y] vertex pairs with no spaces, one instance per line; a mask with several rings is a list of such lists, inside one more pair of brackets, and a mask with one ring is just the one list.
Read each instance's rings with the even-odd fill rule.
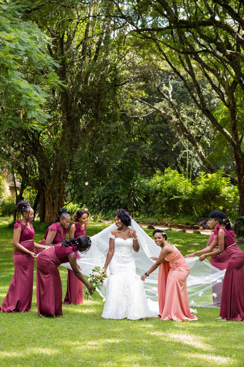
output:
[[164,217],[168,215],[208,216],[211,210],[225,210],[229,215],[239,204],[237,186],[222,177],[222,170],[214,174],[201,172],[191,182],[179,172],[168,168],[157,172],[149,181],[150,208]]

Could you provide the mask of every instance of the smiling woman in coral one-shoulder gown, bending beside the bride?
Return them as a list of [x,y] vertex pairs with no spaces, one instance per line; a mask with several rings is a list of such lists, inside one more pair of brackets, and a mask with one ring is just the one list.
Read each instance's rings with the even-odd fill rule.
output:
[[[190,273],[189,265],[172,243],[166,241],[168,236],[161,229],[153,231],[154,241],[157,246],[161,247],[159,257],[153,257],[155,264],[141,276],[144,281],[158,266],[158,303],[161,320],[198,320],[195,315],[191,315],[189,300],[187,295],[186,279]],[[169,272],[166,268],[165,262],[169,262]],[[165,279],[166,289],[165,289]]]

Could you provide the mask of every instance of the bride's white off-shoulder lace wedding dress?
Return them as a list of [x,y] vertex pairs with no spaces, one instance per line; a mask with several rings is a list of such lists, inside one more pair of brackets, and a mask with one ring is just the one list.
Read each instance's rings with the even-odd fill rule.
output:
[[133,238],[109,237],[115,240],[115,252],[109,263],[110,275],[102,317],[104,319],[138,320],[153,317],[143,281],[136,274],[133,258]]

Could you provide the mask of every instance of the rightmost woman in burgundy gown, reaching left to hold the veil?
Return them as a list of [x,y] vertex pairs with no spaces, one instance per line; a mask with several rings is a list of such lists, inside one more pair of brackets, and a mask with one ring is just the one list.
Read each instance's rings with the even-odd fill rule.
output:
[[[219,248],[209,252],[207,256],[215,256],[225,250],[229,259],[223,280],[219,319],[242,321],[244,320],[244,252],[236,244],[234,239],[236,235],[231,229],[229,219],[211,218],[211,222],[215,220],[218,221],[215,230],[217,236],[209,246],[209,250],[213,250],[217,243]],[[194,254],[198,255],[206,252],[207,249],[203,249],[194,252]],[[194,256],[194,254],[191,255]],[[203,261],[205,258],[205,256],[200,256],[199,260]]]

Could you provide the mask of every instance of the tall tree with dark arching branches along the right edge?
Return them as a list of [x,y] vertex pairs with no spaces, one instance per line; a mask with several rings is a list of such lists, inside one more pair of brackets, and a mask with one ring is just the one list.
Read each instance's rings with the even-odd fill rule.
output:
[[[243,1],[158,0],[142,1],[136,6],[127,1],[116,3],[116,10],[124,24],[130,25],[129,33],[143,40],[149,52],[167,63],[184,83],[197,108],[232,146],[240,194],[239,214],[243,215]],[[173,101],[160,87],[155,86],[177,115]],[[215,109],[213,98],[218,100]],[[214,172],[215,167],[207,161],[180,118],[176,130],[191,142],[204,165]]]

